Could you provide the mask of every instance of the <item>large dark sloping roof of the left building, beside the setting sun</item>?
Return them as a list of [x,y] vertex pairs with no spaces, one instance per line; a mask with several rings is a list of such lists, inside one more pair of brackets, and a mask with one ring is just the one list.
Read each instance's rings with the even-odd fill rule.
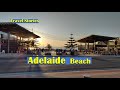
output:
[[5,32],[5,33],[10,32],[10,34],[19,36],[22,38],[30,38],[30,37],[40,38],[40,36],[12,22],[0,22],[0,31]]

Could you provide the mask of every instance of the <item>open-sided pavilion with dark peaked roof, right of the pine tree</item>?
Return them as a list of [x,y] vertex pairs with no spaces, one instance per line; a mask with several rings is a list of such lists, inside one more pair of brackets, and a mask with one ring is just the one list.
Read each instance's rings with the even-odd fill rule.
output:
[[[90,35],[79,39],[79,50],[98,54],[120,54],[120,38]],[[84,43],[84,45],[83,45]]]

